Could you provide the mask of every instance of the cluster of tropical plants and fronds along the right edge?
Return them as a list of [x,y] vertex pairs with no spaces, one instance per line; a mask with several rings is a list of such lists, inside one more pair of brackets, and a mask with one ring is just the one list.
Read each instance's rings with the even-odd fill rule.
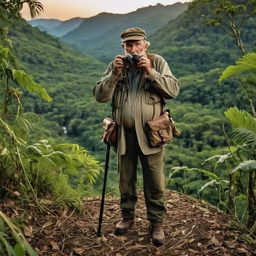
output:
[[[250,72],[253,75],[255,70],[256,54],[249,53],[239,59],[236,62],[236,66],[229,66],[224,70],[219,78],[219,82],[242,72]],[[254,83],[251,83],[251,85],[256,86]],[[169,177],[172,177],[178,170],[183,170],[183,172],[196,170],[199,173],[206,174],[212,180],[204,184],[198,192],[205,190],[208,186],[218,187],[219,204],[224,205],[227,214],[235,216],[237,220],[240,218],[243,221],[245,212],[247,211],[247,228],[250,233],[253,233],[256,230],[256,116],[251,100],[250,103],[254,117],[247,111],[240,111],[236,106],[225,112],[225,116],[231,122],[234,129],[231,132],[231,140],[237,143],[237,148],[231,151],[230,140],[227,138],[223,126],[229,153],[217,155],[204,161],[206,163],[207,161],[218,158],[212,172],[183,166],[172,168]],[[226,170],[228,180],[215,174],[219,167]],[[228,193],[226,193],[227,191]],[[244,212],[240,212],[238,216],[237,201],[239,200],[240,204],[242,200],[243,205],[246,205],[246,207]]]

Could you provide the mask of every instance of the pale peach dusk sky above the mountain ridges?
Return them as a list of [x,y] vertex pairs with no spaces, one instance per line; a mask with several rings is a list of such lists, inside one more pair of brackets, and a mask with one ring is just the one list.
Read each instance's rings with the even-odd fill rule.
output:
[[[128,13],[157,3],[172,5],[176,2],[189,2],[189,0],[41,0],[39,2],[44,5],[44,12],[38,18],[67,20],[73,17],[87,18],[100,12]],[[26,5],[22,15],[25,19],[31,19]]]

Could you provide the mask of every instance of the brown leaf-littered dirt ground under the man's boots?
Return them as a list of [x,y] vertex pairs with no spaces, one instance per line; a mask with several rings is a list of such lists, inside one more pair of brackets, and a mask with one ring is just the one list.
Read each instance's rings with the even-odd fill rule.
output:
[[114,234],[120,221],[119,198],[105,199],[104,215],[98,238],[96,230],[100,198],[86,198],[83,212],[54,210],[40,213],[16,207],[13,201],[0,204],[11,217],[25,216],[27,240],[40,255],[256,255],[256,241],[242,235],[223,212],[207,203],[175,191],[167,191],[167,216],[163,227],[165,243],[155,247],[146,220],[143,192],[139,193],[135,224],[124,236]]

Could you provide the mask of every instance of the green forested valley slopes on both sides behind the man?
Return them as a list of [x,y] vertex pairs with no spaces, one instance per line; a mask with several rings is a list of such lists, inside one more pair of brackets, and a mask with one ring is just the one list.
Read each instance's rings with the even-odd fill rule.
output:
[[[203,26],[198,15],[186,11],[148,38],[152,42],[149,51],[161,54],[181,81],[178,98],[167,103],[182,136],[166,148],[166,177],[171,167],[199,167],[203,160],[223,151],[226,140],[222,123],[227,133],[230,130],[223,111],[235,104],[247,108],[247,100],[237,83],[225,82],[219,86],[217,81],[223,68],[240,56],[235,42],[222,31]],[[251,21],[242,31],[246,49],[255,46],[254,26]],[[42,83],[53,98],[52,103],[36,97],[26,98],[25,109],[49,120],[44,122],[48,136],[79,142],[103,162],[105,145],[99,139],[101,121],[111,112],[111,107],[110,102],[95,101],[92,87],[106,64],[71,50],[60,40],[25,22],[19,23],[15,30],[10,29],[9,34],[24,69]],[[108,47],[104,50],[106,57],[113,58]],[[67,128],[67,134],[63,134],[62,126]],[[111,158],[108,189],[117,186],[118,179],[115,155]],[[195,196],[198,187],[205,184],[203,180],[196,180],[197,176],[191,174],[185,181]],[[99,179],[99,183],[101,181]],[[183,178],[176,181],[172,187],[184,184]]]

